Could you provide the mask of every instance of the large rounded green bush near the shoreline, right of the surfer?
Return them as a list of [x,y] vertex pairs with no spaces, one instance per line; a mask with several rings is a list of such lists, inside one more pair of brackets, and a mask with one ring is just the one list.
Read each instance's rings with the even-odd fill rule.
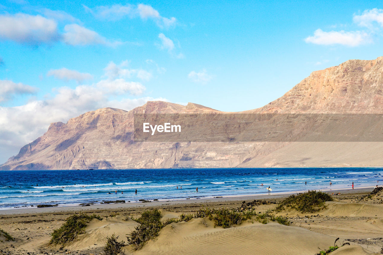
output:
[[297,195],[291,195],[280,203],[278,203],[275,211],[280,212],[285,208],[293,208],[299,212],[317,212],[324,208],[324,202],[332,201],[331,195],[321,192],[309,190]]

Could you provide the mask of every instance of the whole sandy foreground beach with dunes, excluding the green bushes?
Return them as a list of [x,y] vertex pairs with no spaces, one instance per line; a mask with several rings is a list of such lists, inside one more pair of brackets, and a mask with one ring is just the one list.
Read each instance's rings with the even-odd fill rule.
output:
[[[215,227],[205,218],[173,222],[163,227],[159,235],[139,250],[123,247],[125,254],[316,254],[334,245],[350,242],[331,254],[380,254],[383,245],[383,204],[381,193],[368,196],[373,188],[327,191],[338,193],[334,201],[315,213],[300,213],[286,209],[277,215],[290,221],[289,226],[270,221],[262,224],[247,219],[224,229]],[[151,201],[150,203],[93,204],[50,208],[16,208],[0,211],[1,229],[15,241],[0,242],[0,254],[102,254],[106,237],[115,234],[127,242],[129,234],[139,224],[138,218],[148,209],[159,209],[162,219],[178,218],[182,213],[195,213],[200,208],[243,208],[248,202],[258,212],[275,208],[288,194],[185,199],[183,201]],[[361,199],[363,198],[363,199]],[[243,203],[246,201],[246,203]],[[245,206],[246,207],[246,206]],[[241,208],[241,209],[242,209]],[[49,245],[51,233],[75,212],[95,213],[103,217],[92,219],[85,233],[75,242]]]

